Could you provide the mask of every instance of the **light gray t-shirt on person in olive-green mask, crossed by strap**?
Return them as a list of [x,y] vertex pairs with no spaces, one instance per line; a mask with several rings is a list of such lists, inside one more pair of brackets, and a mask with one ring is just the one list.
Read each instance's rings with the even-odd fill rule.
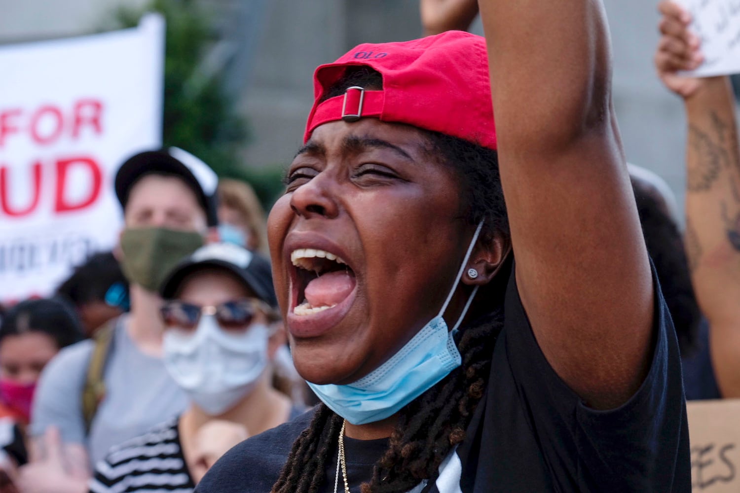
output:
[[106,395],[92,420],[90,435],[82,417],[82,390],[93,341],[81,341],[58,353],[41,374],[33,403],[30,433],[42,435],[57,426],[65,443],[87,447],[90,464],[110,447],[143,434],[185,410],[188,399],[167,373],[161,358],[135,346],[125,329],[127,316],[115,326],[104,381]]

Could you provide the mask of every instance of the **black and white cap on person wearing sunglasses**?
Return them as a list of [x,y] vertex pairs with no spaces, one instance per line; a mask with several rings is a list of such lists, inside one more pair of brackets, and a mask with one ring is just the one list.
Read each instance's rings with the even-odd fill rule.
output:
[[204,267],[225,268],[243,280],[259,299],[273,308],[277,307],[270,263],[263,256],[233,243],[211,243],[198,248],[172,269],[161,285],[160,295],[164,299],[171,299],[185,276]]

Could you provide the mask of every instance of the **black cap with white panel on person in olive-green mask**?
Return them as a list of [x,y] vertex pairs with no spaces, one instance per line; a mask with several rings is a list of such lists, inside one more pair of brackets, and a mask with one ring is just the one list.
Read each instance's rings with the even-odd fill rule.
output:
[[124,209],[131,188],[147,174],[172,175],[183,180],[198,197],[198,203],[208,218],[208,225],[218,224],[216,216],[218,177],[198,157],[178,147],[139,152],[129,157],[115,174],[115,194]]

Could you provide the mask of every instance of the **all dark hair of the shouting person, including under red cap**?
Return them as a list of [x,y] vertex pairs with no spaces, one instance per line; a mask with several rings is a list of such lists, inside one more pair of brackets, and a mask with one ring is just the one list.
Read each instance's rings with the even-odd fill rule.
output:
[[[341,95],[350,86],[382,89],[383,78],[369,67],[350,67],[322,100]],[[470,225],[485,221],[482,241],[495,235],[508,237],[496,151],[438,132],[424,133],[429,157],[448,166],[457,179],[462,219]],[[465,439],[465,429],[487,387],[494,345],[503,326],[501,300],[508,272],[508,265],[503,266],[480,291],[479,296],[493,300],[494,306],[477,307],[488,313],[460,331],[456,342],[461,366],[399,412],[388,449],[375,464],[371,480],[362,485],[363,493],[403,493],[431,480],[454,446]],[[481,314],[471,310],[471,315]],[[319,404],[311,424],[293,443],[272,493],[317,493],[326,480],[326,459],[338,446],[342,423],[340,416]]]

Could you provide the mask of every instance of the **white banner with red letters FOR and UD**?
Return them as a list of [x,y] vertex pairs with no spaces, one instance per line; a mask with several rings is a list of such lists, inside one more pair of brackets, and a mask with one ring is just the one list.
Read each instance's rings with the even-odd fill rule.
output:
[[0,302],[14,302],[117,242],[115,171],[161,145],[164,18],[0,47],[0,67]]

